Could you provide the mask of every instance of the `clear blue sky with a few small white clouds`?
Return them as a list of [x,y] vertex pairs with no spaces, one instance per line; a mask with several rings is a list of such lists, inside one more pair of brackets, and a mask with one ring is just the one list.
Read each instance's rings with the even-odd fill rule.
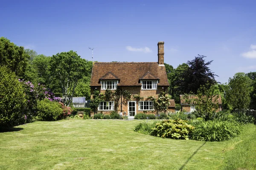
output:
[[77,51],[100,62],[165,62],[177,68],[197,54],[224,83],[256,71],[256,0],[1,0],[0,37],[52,56]]

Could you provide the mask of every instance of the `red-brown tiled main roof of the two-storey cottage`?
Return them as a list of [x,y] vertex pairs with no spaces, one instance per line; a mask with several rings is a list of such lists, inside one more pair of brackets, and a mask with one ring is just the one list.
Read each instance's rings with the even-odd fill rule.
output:
[[[149,74],[148,74],[149,72]],[[95,62],[90,80],[90,86],[101,86],[101,78],[120,79],[119,86],[141,86],[140,78],[159,79],[159,86],[169,86],[165,66],[157,62]]]

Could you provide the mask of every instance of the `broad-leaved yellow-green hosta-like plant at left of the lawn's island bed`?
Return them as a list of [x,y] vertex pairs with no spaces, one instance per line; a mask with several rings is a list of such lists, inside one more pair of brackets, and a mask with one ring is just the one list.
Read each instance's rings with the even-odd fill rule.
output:
[[187,121],[182,119],[164,120],[156,123],[151,134],[161,138],[188,140],[194,128],[194,126],[188,125]]

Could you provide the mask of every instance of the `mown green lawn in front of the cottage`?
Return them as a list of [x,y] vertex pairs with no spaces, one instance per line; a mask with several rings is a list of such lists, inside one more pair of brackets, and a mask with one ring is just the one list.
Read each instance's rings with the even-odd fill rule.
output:
[[[250,163],[256,162],[255,125],[247,125],[250,132],[244,130],[228,142],[198,142],[134,132],[138,122],[70,119],[17,126],[17,131],[0,133],[0,169],[216,170],[255,166]],[[250,148],[252,144],[255,148]],[[245,150],[240,149],[245,145]],[[244,160],[246,156],[250,162]]]

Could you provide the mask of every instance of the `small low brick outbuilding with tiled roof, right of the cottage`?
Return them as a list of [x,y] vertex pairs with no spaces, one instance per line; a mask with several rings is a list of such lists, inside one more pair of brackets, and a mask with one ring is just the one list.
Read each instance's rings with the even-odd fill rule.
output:
[[[192,99],[196,99],[197,96],[195,95],[189,95],[188,101],[191,101]],[[184,98],[184,95],[180,95],[180,105],[181,110],[186,112],[193,112],[195,111],[195,104],[194,103],[188,103],[186,99]],[[222,102],[221,102],[221,96],[217,95],[214,98],[212,98],[212,102],[218,103],[218,109],[216,112],[222,110]]]

